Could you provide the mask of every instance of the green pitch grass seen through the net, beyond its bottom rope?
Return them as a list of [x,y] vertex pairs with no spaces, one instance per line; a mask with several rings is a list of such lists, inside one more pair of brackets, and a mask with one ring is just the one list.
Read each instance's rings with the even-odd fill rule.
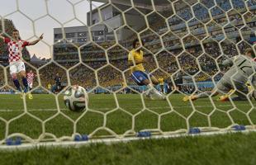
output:
[[[32,139],[37,139],[43,130],[58,138],[71,136],[73,132],[91,134],[93,130],[104,126],[104,122],[116,134],[124,134],[127,130],[175,131],[188,127],[225,128],[235,123],[256,123],[256,113],[249,101],[238,101],[234,106],[230,102],[216,101],[215,109],[209,99],[202,99],[193,102],[193,110],[192,104],[183,102],[182,97],[171,95],[171,106],[168,101],[145,99],[144,108],[139,95],[116,95],[116,100],[113,95],[90,95],[90,111],[73,112],[66,109],[62,96],[55,99],[53,95],[34,95],[33,100],[26,100],[25,113],[23,100],[19,96],[0,95],[0,139],[5,138],[5,120],[9,121],[8,134],[19,132]],[[59,101],[60,111],[57,110],[56,101]],[[110,134],[106,130],[99,130],[95,135]]]

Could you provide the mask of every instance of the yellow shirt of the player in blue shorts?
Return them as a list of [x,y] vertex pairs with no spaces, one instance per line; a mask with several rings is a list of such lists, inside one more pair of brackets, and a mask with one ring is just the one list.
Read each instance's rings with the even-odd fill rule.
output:
[[145,71],[145,68],[143,67],[143,64],[136,64],[138,61],[143,59],[143,51],[140,50],[140,53],[137,52],[136,50],[131,50],[129,55],[128,55],[128,61],[131,61],[131,63],[133,63],[133,60],[135,62],[135,66],[131,66],[130,67],[130,71],[131,73],[133,73],[134,71]]

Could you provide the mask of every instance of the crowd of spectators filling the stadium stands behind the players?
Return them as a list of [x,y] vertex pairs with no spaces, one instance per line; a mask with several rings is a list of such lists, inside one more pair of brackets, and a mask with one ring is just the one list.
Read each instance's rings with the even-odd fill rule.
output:
[[[251,9],[248,14],[244,14],[244,20],[238,12],[243,13],[246,10],[245,5],[255,8],[256,2],[253,0],[247,1],[246,4],[242,0],[232,0],[231,2],[233,2],[235,8],[232,11],[230,11],[230,1],[217,0],[218,7],[213,7],[215,5],[213,1],[201,0],[201,4],[192,7],[197,19],[192,19],[191,7],[176,3],[175,7],[183,6],[183,8],[178,10],[177,15],[168,18],[168,26],[171,31],[164,34],[168,30],[166,21],[154,21],[150,25],[151,30],[148,29],[140,33],[141,39],[145,42],[144,52],[147,61],[145,68],[156,74],[155,77],[164,78],[170,86],[173,86],[171,76],[176,78],[177,72],[179,72],[179,78],[194,76],[197,82],[212,81],[212,78],[216,81],[219,80],[221,73],[227,69],[221,66],[221,61],[239,53],[244,54],[244,50],[251,46],[249,40],[240,41],[243,37],[239,35],[238,28],[244,26],[244,20],[247,26],[244,28],[243,34],[246,31],[250,32],[255,26],[253,17],[256,14],[255,9]],[[213,7],[210,12],[214,21],[209,21],[208,8],[210,7]],[[224,11],[229,11],[227,12],[228,16],[225,16]],[[221,26],[227,25],[228,19],[231,23],[223,31]],[[185,25],[183,20],[188,21],[188,26]],[[204,24],[202,22],[208,23]],[[12,22],[7,21],[5,26],[11,27]],[[12,28],[6,29],[12,31]],[[187,35],[188,30],[191,32],[190,35]],[[225,35],[227,38],[223,40]],[[134,39],[135,36],[131,36],[129,40],[123,41],[121,45],[125,45],[127,50],[131,50],[130,43]],[[238,42],[239,44],[236,46],[235,44]],[[107,42],[104,42],[100,45],[107,49],[113,43],[107,44]],[[1,54],[7,54],[6,49],[2,47],[2,43],[0,46]],[[56,73],[59,73],[62,77],[64,86],[68,84],[67,73],[64,68],[70,68],[78,64],[78,49],[80,49],[83,64],[69,70],[71,84],[91,88],[96,87],[98,83],[102,87],[111,87],[121,85],[125,81],[124,78],[126,78],[128,85],[134,85],[129,77],[128,52],[122,49],[121,46],[116,46],[105,54],[102,48],[96,44],[85,45],[81,48],[74,45],[55,47],[54,59],[57,64],[46,64],[44,68],[39,70],[41,84],[45,88],[48,88],[49,84],[55,84]],[[157,65],[159,65],[158,70],[162,69],[165,73],[156,72]],[[195,90],[193,86],[180,87],[182,92],[191,93]],[[209,87],[201,87],[200,90],[210,89]]]

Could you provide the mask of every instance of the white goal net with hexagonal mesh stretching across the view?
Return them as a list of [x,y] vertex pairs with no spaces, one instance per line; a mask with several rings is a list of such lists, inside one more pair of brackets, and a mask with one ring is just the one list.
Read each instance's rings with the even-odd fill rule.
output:
[[[15,28],[22,40],[45,35],[22,51],[26,73],[35,75],[32,100],[17,94],[7,45],[0,40],[0,146],[254,130],[251,82],[245,101],[230,99],[236,87],[227,101],[218,101],[221,95],[197,101],[189,96],[216,87],[230,69],[225,59],[249,48],[255,52],[255,9],[254,0],[2,2],[2,36],[12,39]],[[135,39],[165,100],[145,97],[148,87],[130,77]],[[64,92],[73,85],[88,92],[83,111],[64,105]]]

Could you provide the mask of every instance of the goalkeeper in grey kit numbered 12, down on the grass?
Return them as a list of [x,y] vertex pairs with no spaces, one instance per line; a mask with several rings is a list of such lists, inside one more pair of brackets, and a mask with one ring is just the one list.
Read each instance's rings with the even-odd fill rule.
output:
[[[249,89],[246,82],[251,82],[253,88],[256,88],[256,64],[254,62],[254,50],[245,50],[245,55],[236,55],[230,59],[223,61],[224,66],[231,66],[231,68],[223,75],[216,87],[211,92],[202,92],[198,95],[183,97],[183,101],[197,100],[198,98],[205,98],[216,96],[219,93],[224,94],[220,97],[220,101],[227,101],[229,99],[230,90],[235,90],[237,97],[232,97],[233,101],[246,101],[248,98]],[[255,92],[255,91],[254,91]],[[251,97],[256,97],[252,94]],[[255,95],[255,96],[254,96]]]

